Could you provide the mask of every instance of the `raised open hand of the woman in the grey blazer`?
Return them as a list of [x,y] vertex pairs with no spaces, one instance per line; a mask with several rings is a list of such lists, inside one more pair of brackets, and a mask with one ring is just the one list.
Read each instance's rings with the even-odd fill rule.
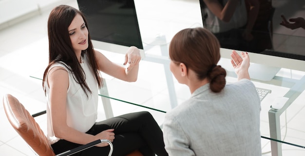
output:
[[231,64],[235,69],[235,73],[237,74],[237,79],[249,79],[249,72],[248,69],[250,67],[250,59],[249,55],[246,52],[241,52],[241,56],[236,52],[232,51],[231,53]]

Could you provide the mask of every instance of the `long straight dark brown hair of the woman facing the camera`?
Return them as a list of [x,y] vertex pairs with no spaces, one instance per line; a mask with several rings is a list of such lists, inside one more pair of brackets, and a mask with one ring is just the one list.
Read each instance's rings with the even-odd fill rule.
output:
[[[74,17],[76,17],[77,14],[79,14],[84,19],[85,25],[89,31],[87,21],[84,15],[79,10],[71,6],[59,5],[54,8],[50,13],[48,19],[49,65],[47,66],[43,74],[43,88],[45,88],[44,82],[46,81],[46,76],[49,68],[55,63],[64,62],[68,66],[67,68],[73,73],[75,81],[80,84],[84,92],[86,94],[87,91],[92,93],[85,82],[86,75],[77,60],[68,32],[68,27],[70,26],[72,20],[74,19]],[[86,57],[88,58],[91,69],[95,74],[95,79],[97,81],[98,87],[101,87],[103,85],[102,78],[97,68],[98,66],[95,58],[93,45],[91,42],[90,33],[88,34],[87,40],[89,44],[88,49],[82,51],[81,55],[86,55]]]

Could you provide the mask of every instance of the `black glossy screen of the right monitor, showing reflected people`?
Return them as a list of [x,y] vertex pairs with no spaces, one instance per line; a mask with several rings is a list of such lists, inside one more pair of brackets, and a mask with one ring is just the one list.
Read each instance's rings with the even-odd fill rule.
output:
[[[228,0],[215,0],[225,5]],[[286,19],[305,18],[305,0],[258,0],[259,12],[247,38],[246,28],[251,19],[247,0],[240,0],[229,21],[220,19],[213,10],[200,0],[203,25],[218,38],[221,47],[246,52],[261,53],[279,57],[305,60],[302,47],[305,44],[303,28],[291,30],[280,23],[281,15]],[[211,6],[211,5],[210,5]],[[225,18],[225,17],[224,17]]]

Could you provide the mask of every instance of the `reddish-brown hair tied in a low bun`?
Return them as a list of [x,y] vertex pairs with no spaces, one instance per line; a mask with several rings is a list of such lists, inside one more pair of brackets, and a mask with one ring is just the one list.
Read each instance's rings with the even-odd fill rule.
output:
[[188,28],[173,36],[170,58],[176,64],[184,63],[197,74],[199,80],[209,78],[210,89],[220,92],[226,85],[226,70],[217,66],[220,59],[220,44],[205,28]]

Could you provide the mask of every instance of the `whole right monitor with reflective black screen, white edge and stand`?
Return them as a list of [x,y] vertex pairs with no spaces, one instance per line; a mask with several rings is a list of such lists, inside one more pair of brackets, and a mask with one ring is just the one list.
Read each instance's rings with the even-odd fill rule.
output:
[[[281,15],[287,20],[305,18],[305,0],[258,0],[255,20],[249,16],[247,0],[239,0],[229,19],[217,17],[217,9],[204,1],[199,0],[203,27],[218,38],[222,58],[230,59],[232,50],[249,52],[250,77],[263,81],[271,80],[281,68],[305,71],[305,29],[292,30],[280,24]],[[214,0],[221,6],[226,1]],[[249,22],[254,24],[246,29]]]

